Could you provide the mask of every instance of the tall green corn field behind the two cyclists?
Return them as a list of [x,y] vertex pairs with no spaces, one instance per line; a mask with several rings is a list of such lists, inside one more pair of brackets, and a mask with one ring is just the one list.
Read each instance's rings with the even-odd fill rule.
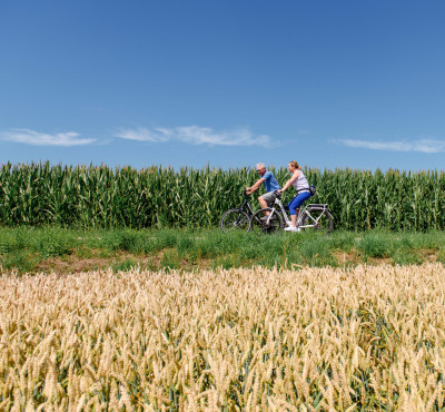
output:
[[[287,169],[275,171],[284,185]],[[443,171],[305,173],[318,193],[310,202],[329,204],[336,228],[445,228]],[[6,164],[0,168],[0,225],[211,227],[225,210],[239,205],[241,190],[257,178],[251,168],[175,171],[160,166],[136,170]],[[284,200],[291,196],[293,188]],[[256,195],[251,203],[259,208]]]

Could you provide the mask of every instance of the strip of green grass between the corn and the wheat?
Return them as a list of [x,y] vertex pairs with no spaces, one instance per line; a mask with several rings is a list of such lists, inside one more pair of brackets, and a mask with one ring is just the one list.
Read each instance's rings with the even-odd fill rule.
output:
[[256,236],[219,229],[65,229],[0,227],[3,272],[72,272],[112,267],[199,269],[221,266],[344,266],[445,262],[445,233],[334,232]]

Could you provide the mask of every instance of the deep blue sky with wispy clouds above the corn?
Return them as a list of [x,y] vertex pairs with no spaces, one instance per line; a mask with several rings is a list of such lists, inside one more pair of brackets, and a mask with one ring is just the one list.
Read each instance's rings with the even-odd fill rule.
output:
[[0,164],[442,169],[442,0],[2,0]]

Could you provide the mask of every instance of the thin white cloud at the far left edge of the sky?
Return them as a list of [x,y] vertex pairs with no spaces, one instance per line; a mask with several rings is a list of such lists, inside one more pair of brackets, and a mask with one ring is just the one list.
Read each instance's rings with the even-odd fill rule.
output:
[[63,147],[90,145],[96,141],[96,139],[79,138],[79,134],[76,131],[50,135],[30,129],[13,129],[10,131],[3,131],[0,133],[0,139],[32,146]]

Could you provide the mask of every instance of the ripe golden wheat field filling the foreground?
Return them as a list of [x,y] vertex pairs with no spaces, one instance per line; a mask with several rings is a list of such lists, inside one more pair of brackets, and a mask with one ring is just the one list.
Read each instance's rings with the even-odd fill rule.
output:
[[445,268],[0,277],[0,410],[444,408]]

